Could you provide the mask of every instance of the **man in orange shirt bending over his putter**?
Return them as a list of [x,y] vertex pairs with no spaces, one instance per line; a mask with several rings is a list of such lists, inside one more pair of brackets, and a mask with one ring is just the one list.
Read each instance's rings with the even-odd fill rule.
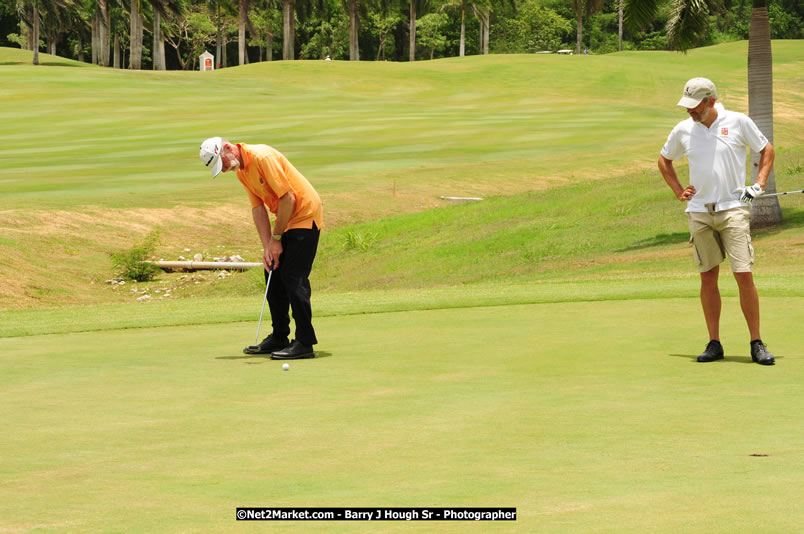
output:
[[[310,270],[324,226],[321,199],[310,182],[279,151],[266,145],[232,144],[212,137],[201,145],[201,161],[212,170],[236,171],[251,201],[251,213],[263,246],[273,332],[246,354],[271,354],[275,360],[312,358],[318,343],[310,306]],[[273,229],[265,207],[276,215]],[[296,338],[289,341],[293,310]]]

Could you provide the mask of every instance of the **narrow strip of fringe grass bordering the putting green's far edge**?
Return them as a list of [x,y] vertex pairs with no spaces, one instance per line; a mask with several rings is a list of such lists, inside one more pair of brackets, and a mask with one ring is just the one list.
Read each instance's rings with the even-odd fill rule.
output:
[[[797,273],[755,276],[760,297],[804,297],[804,280]],[[245,290],[244,290],[245,291]],[[522,283],[485,281],[424,289],[375,289],[313,294],[315,317],[366,315],[416,310],[461,309],[521,304],[630,301],[697,297],[698,275],[620,277]],[[730,275],[720,282],[723,296],[736,296]],[[69,332],[150,329],[160,326],[253,323],[256,330],[262,293],[250,296],[157,299],[136,304],[67,306],[41,310],[0,311],[0,339]],[[267,313],[267,312],[266,312]],[[267,323],[266,323],[267,324]]]

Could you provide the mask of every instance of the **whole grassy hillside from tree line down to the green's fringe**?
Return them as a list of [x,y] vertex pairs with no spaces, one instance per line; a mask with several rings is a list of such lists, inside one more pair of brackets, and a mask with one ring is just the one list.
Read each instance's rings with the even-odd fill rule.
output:
[[[321,191],[330,229],[319,290],[638,277],[668,257],[666,271],[687,269],[681,206],[653,170],[656,154],[683,118],[673,103],[692,72],[717,79],[726,105],[746,110],[745,55],[746,43],[731,43],[686,56],[154,73],[56,67],[77,64],[48,56],[51,66],[35,68],[3,49],[0,309],[132,301],[104,286],[107,253],[154,228],[166,258],[188,248],[258,257],[241,188],[227,176],[209,181],[196,160],[193,147],[216,133],[277,146]],[[804,180],[801,57],[800,42],[774,43],[780,189]],[[427,211],[446,206],[440,195],[493,200]],[[773,263],[796,259],[799,218],[789,214],[773,239],[760,236]],[[377,239],[344,250],[349,232]],[[230,280],[178,294],[247,295],[258,283]]]

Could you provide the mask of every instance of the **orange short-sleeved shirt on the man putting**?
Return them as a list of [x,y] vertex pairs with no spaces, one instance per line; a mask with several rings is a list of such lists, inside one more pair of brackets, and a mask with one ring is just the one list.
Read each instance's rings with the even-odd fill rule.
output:
[[238,169],[237,179],[246,188],[252,208],[264,204],[276,215],[279,199],[291,191],[296,197],[296,207],[285,229],[309,229],[314,222],[319,229],[324,227],[321,198],[281,152],[268,145],[237,146],[243,156],[243,168]]

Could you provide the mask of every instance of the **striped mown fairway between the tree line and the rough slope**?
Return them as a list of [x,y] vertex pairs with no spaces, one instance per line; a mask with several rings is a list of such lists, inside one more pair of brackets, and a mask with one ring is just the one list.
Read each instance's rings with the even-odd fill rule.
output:
[[[796,107],[800,43],[775,47],[777,90]],[[522,188],[609,174],[655,159],[668,125],[683,117],[673,104],[691,70],[713,71],[721,98],[744,109],[745,50],[743,42],[688,56],[276,62],[214,73],[2,66],[0,118],[15,133],[3,136],[2,207],[239,198],[210,187],[192,158],[213,133],[280,147],[325,195],[390,190],[394,178],[400,188],[449,193],[431,180],[471,187],[480,172],[485,187],[496,177]],[[794,124],[776,128],[777,144],[800,144]],[[507,175],[523,161],[523,173]]]

